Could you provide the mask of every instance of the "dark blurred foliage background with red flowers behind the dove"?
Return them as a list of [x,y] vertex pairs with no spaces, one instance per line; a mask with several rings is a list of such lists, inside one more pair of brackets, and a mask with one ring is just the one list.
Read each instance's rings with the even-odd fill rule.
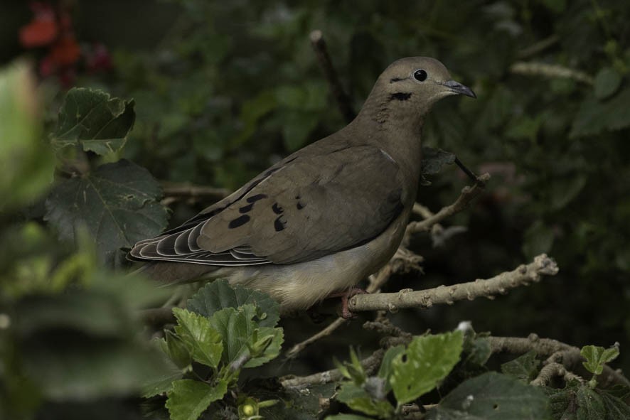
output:
[[[491,173],[452,235],[421,235],[424,274],[387,291],[484,279],[541,252],[560,273],[494,301],[401,311],[413,333],[459,321],[493,335],[607,347],[630,372],[630,2],[2,1],[0,63],[31,58],[52,119],[69,87],[134,98],[124,157],[164,185],[233,190],[346,124],[309,33],[319,29],[355,110],[380,72],[410,55],[438,58],[477,99],[440,102],[422,141]],[[448,166],[420,188],[433,211],[469,183]],[[212,197],[168,195],[171,225]],[[322,325],[284,321],[285,348]],[[332,366],[378,337],[351,323],[292,373]],[[331,357],[321,357],[326,345]],[[271,372],[271,375],[277,375]]]

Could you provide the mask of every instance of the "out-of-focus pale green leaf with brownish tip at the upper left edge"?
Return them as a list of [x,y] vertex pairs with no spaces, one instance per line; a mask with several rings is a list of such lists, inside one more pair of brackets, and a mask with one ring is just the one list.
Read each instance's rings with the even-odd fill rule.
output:
[[35,77],[18,62],[0,70],[0,211],[36,200],[53,181],[53,154],[41,144]]

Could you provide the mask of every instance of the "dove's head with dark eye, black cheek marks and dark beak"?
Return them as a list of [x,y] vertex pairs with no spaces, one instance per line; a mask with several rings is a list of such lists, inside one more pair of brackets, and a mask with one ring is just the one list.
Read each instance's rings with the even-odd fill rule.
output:
[[476,97],[452,80],[442,63],[429,57],[401,58],[381,73],[363,109],[378,122],[421,119],[439,99],[451,95]]

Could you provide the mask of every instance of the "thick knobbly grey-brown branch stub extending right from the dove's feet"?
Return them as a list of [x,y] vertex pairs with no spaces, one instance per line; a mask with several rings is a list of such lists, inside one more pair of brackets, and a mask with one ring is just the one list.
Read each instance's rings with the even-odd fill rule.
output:
[[452,304],[454,301],[480,296],[491,297],[504,294],[508,289],[540,281],[540,276],[553,276],[558,268],[555,262],[541,254],[527,265],[521,265],[513,271],[498,274],[491,279],[470,281],[469,283],[439,286],[421,291],[399,291],[387,294],[365,294],[353,296],[348,301],[352,312],[361,311],[396,311],[399,308],[428,308],[437,303]]

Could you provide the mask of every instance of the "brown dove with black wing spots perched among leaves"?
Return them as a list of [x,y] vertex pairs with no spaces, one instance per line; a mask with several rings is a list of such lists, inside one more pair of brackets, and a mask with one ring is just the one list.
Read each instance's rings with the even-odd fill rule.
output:
[[451,95],[475,97],[427,57],[378,77],[357,117],[300,149],[183,225],[134,245],[129,259],[165,282],[227,278],[283,311],[346,291],[402,241],[420,180],[422,122]]

